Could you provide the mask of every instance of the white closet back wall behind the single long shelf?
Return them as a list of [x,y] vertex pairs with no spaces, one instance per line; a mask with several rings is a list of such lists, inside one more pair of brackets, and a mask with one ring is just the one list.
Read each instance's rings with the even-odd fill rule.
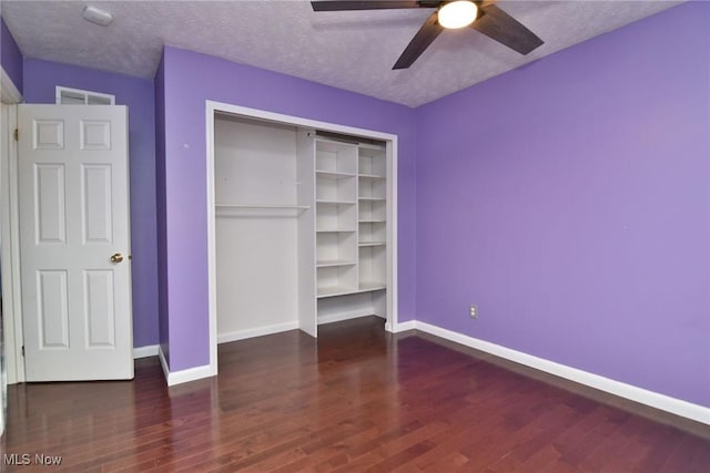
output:
[[214,123],[217,340],[298,327],[296,130]]

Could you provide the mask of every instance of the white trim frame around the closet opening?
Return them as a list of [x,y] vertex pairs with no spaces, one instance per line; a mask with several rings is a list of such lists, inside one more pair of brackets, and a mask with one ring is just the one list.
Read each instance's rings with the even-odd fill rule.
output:
[[[206,123],[206,146],[207,146],[207,286],[209,286],[209,319],[210,319],[210,371],[217,372],[217,298],[216,298],[216,240],[215,240],[215,215],[214,215],[214,114],[219,112],[241,115],[247,119],[275,122],[304,128],[314,128],[325,132],[341,133],[351,136],[362,136],[367,138],[382,140],[387,142],[388,169],[387,182],[390,188],[390,199],[388,206],[387,224],[390,232],[388,234],[387,251],[389,255],[390,271],[387,275],[387,299],[390,311],[387,315],[385,329],[387,331],[397,330],[397,135],[390,133],[376,132],[373,130],[356,128],[353,126],[338,125],[335,123],[321,122],[317,120],[304,119],[294,115],[266,112],[257,109],[233,105],[230,103],[205,102]],[[392,176],[392,178],[390,178]]]

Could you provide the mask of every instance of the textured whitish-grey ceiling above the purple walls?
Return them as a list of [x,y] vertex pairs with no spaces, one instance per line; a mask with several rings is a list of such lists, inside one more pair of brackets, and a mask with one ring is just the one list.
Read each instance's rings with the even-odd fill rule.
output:
[[[449,30],[402,71],[392,65],[432,10],[315,13],[301,0],[0,4],[27,58],[152,79],[168,44],[417,106],[678,3],[500,0],[542,47],[523,56],[470,28]],[[85,4],[110,11],[113,23],[84,21]]]

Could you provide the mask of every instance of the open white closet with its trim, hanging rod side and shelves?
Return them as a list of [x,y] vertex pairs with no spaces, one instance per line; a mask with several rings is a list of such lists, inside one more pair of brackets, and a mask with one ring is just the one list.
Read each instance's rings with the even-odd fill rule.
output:
[[216,345],[378,316],[396,328],[397,136],[207,102]]

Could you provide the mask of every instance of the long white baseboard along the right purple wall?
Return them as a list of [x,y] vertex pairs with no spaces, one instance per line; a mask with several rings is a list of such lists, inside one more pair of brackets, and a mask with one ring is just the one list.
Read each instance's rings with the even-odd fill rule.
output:
[[454,341],[456,343],[464,345],[466,347],[475,348],[476,350],[485,351],[496,357],[505,358],[506,360],[515,361],[516,363],[525,364],[536,370],[545,371],[565,378],[580,384],[585,384],[600,391],[609,392],[620,398],[630,399],[631,401],[639,402],[641,404],[650,405],[662,411],[671,412],[676,415],[692,419],[703,424],[710,425],[710,408],[703,405],[693,404],[688,401],[671,398],[666,394],[661,394],[655,391],[649,391],[643,388],[627,384],[621,381],[616,381],[609,378],[594,374],[587,371],[571,368],[566,364],[560,364],[555,361],[538,358],[532,354],[527,354],[521,351],[516,351],[510,348],[501,347],[496,343],[491,343],[485,340],[479,340],[463,333],[458,333],[452,330],[443,329],[430,323],[420,321],[409,321],[399,323],[397,331],[402,331],[403,326],[409,327],[413,325],[417,330],[425,331],[427,333],[444,338],[446,340]]

